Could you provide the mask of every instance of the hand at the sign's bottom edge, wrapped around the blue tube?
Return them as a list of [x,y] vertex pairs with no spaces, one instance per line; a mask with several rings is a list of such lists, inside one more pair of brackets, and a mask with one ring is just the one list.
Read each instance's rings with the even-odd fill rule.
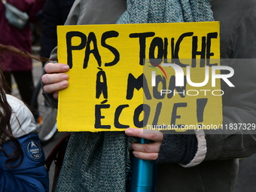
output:
[[142,160],[157,160],[160,145],[163,141],[163,133],[156,130],[151,130],[150,133],[148,130],[147,133],[144,132],[145,130],[136,128],[125,130],[127,136],[134,136],[153,141],[146,144],[132,143],[131,148],[134,150],[133,155]]

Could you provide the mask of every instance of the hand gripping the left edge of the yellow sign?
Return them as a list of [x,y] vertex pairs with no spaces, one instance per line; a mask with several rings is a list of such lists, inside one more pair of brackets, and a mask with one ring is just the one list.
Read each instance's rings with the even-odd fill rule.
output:
[[53,98],[58,99],[59,90],[69,86],[69,75],[65,73],[69,71],[69,66],[62,63],[49,62],[44,66],[44,70],[47,72],[41,78],[44,83],[44,91],[45,93],[53,93]]

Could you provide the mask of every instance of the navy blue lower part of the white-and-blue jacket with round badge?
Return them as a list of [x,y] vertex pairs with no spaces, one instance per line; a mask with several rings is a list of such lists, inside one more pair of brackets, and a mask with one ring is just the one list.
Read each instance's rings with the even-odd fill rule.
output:
[[[38,135],[30,133],[18,138],[23,150],[23,162],[17,168],[9,169],[5,166],[8,157],[0,151],[0,191],[7,192],[45,192],[49,191],[49,179],[44,167],[45,157],[41,148]],[[1,145],[8,154],[12,154],[14,148],[10,140]],[[15,166],[19,161],[9,163]]]

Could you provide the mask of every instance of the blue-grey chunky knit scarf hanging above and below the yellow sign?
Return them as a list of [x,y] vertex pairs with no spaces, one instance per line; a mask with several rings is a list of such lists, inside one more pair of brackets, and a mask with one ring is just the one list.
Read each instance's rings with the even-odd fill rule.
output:
[[[117,0],[118,1],[118,0]],[[127,0],[117,23],[212,21],[209,0]],[[56,191],[124,192],[130,139],[123,132],[72,133]]]

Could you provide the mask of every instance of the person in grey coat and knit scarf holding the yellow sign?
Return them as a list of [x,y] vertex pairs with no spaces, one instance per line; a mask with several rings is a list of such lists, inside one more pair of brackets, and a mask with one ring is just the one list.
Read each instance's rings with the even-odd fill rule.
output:
[[[126,1],[81,0],[75,2],[66,21],[66,25],[211,21],[213,11],[214,19],[221,22],[221,58],[226,59],[221,64],[235,72],[230,78],[235,87],[222,84],[222,129],[175,135],[147,135],[133,128],[125,131],[127,136],[153,141],[133,143],[131,148],[136,157],[158,163],[160,192],[233,191],[237,158],[256,152],[256,4],[251,0],[212,0],[211,4],[166,0],[127,1],[126,6]],[[56,49],[51,58],[56,59]],[[49,62],[44,71],[44,96],[56,106],[58,91],[69,86],[69,66]],[[72,133],[56,191],[125,191],[127,142],[130,140],[123,133]]]

